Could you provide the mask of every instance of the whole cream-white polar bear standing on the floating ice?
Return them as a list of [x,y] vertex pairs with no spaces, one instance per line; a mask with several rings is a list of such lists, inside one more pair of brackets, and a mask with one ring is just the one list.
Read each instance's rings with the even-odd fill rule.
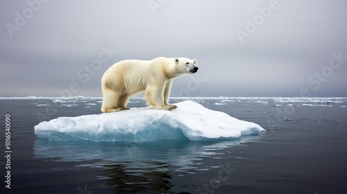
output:
[[141,91],[153,109],[175,109],[169,104],[172,80],[198,71],[196,60],[188,58],[155,58],[123,60],[113,64],[101,78],[102,112],[118,112],[126,107],[128,98]]

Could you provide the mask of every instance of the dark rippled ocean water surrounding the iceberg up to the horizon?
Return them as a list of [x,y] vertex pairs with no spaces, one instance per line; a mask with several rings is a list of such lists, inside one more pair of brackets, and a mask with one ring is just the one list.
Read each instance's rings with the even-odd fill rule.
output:
[[[266,132],[231,141],[47,141],[37,139],[35,125],[100,114],[101,98],[0,98],[0,193],[347,193],[347,98],[171,103],[187,99]],[[131,98],[128,106],[144,104]]]

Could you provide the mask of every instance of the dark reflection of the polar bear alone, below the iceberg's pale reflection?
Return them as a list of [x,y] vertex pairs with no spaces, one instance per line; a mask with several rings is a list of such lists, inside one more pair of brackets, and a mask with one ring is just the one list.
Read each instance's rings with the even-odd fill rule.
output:
[[106,164],[99,178],[115,193],[163,193],[172,186],[169,164],[160,161],[145,161],[141,166],[134,162]]

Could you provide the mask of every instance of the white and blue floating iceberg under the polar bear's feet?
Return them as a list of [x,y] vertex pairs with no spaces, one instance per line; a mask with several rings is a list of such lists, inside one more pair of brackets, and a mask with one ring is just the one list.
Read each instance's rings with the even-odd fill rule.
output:
[[121,112],[59,117],[35,125],[39,139],[50,141],[143,142],[237,139],[265,131],[260,125],[207,109],[190,100],[172,111],[131,108]]

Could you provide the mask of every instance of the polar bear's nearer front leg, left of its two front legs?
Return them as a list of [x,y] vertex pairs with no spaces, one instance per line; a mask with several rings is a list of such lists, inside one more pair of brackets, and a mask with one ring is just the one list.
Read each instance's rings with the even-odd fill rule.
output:
[[147,86],[144,96],[153,109],[172,109],[171,106],[164,104],[164,86]]

